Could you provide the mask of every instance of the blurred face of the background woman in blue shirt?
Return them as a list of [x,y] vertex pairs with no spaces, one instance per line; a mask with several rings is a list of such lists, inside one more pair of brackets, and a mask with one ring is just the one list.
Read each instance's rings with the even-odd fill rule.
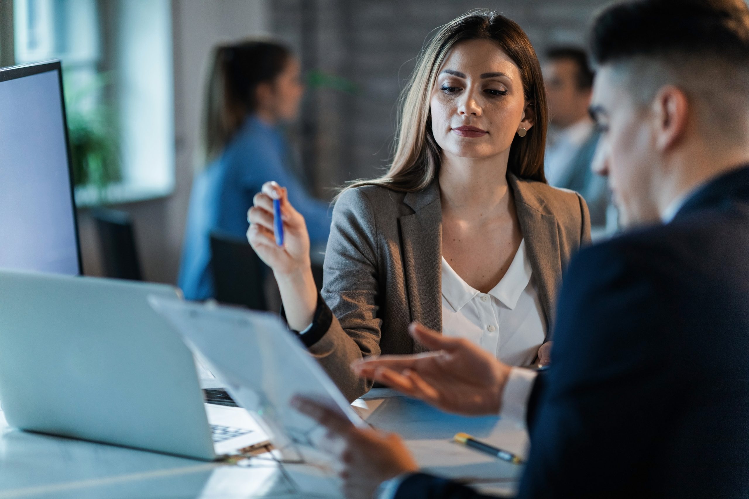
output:
[[304,93],[301,67],[297,58],[289,58],[284,70],[273,84],[258,86],[258,111],[270,114],[274,120],[294,120]]

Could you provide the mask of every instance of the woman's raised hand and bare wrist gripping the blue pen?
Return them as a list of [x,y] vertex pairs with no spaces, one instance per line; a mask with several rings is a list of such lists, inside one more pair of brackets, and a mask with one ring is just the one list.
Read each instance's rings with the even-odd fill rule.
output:
[[[276,244],[273,233],[273,200],[280,201],[283,244]],[[312,322],[318,290],[309,260],[309,234],[304,217],[291,206],[285,188],[275,182],[263,184],[247,212],[247,240],[279,285],[289,327],[302,331]]]

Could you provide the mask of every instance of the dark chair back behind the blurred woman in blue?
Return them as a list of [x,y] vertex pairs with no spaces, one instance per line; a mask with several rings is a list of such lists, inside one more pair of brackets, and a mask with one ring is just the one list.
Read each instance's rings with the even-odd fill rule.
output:
[[265,297],[268,267],[246,239],[214,231],[210,234],[210,254],[217,301],[268,310]]

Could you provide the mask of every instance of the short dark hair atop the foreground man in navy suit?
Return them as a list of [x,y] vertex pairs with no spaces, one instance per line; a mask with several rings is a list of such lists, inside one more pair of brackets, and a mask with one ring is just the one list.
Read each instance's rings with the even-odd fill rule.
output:
[[591,50],[597,64],[684,55],[747,64],[749,8],[744,0],[624,1],[595,20]]

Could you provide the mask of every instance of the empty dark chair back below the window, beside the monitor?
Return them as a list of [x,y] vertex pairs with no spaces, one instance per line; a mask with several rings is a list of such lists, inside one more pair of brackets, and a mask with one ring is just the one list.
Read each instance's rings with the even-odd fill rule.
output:
[[109,208],[91,210],[97,227],[104,275],[108,278],[142,281],[140,259],[133,231],[133,219],[127,212]]

